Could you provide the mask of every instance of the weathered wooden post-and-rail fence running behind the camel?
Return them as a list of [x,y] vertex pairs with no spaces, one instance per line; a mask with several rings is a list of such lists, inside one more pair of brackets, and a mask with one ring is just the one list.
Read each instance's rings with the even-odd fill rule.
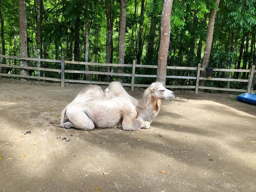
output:
[[[40,59],[40,58],[22,58],[17,56],[9,56],[9,55],[0,55],[0,58],[11,58],[11,59],[22,59],[29,61],[43,61],[43,62],[53,62],[53,63],[61,63],[60,69],[51,69],[51,68],[42,68],[42,67],[28,67],[28,66],[20,66],[20,65],[9,65],[9,64],[0,64],[0,67],[9,67],[9,68],[18,68],[18,69],[27,69],[27,70],[39,70],[39,71],[51,71],[51,72],[59,72],[61,73],[61,79],[58,78],[49,78],[49,77],[39,77],[39,76],[24,76],[17,74],[6,74],[0,73],[0,76],[12,76],[12,77],[20,77],[20,78],[30,78],[30,79],[42,79],[49,81],[59,81],[61,82],[61,87],[64,87],[65,82],[73,82],[73,83],[87,83],[87,84],[110,84],[110,82],[103,81],[84,81],[84,80],[75,80],[75,79],[65,79],[65,73],[80,73],[80,74],[100,74],[100,75],[111,75],[111,76],[128,76],[131,77],[131,83],[122,83],[123,86],[131,87],[131,90],[134,90],[134,87],[149,87],[148,84],[134,84],[136,77],[151,77],[156,78],[156,75],[141,75],[135,74],[136,68],[156,68],[156,65],[137,65],[136,61],[133,61],[133,64],[104,64],[104,63],[88,63],[88,62],[79,62],[79,61],[64,61],[64,57],[61,60],[52,60],[52,59]],[[81,65],[96,65],[96,66],[112,66],[112,67],[132,67],[132,73],[109,73],[109,72],[99,72],[99,71],[84,71],[84,70],[65,70],[65,64],[81,64]],[[200,71],[205,70],[205,68],[201,67],[201,64],[198,64],[198,67],[172,67],[167,66],[168,69],[173,70],[194,70],[197,71],[197,76],[166,76],[166,79],[195,79],[195,86],[181,86],[181,85],[166,85],[166,88],[180,88],[180,89],[195,89],[195,94],[198,94],[198,89],[209,89],[209,90],[224,90],[224,91],[236,91],[236,92],[247,92],[251,91],[253,88],[254,76],[256,74],[255,66],[253,65],[251,70],[245,69],[213,69],[213,71],[222,71],[222,72],[246,72],[250,73],[249,79],[228,79],[228,78],[206,78],[200,77]],[[199,86],[200,80],[207,81],[237,81],[248,83],[247,90],[245,89],[231,89],[231,88],[219,88],[219,87],[202,87]]]

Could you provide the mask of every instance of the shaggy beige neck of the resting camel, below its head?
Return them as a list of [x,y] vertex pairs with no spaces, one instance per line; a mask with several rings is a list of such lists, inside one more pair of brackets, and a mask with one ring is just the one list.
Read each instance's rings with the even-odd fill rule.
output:
[[145,94],[137,105],[138,117],[141,117],[144,121],[151,122],[159,113],[160,107],[161,99],[156,99],[151,94]]

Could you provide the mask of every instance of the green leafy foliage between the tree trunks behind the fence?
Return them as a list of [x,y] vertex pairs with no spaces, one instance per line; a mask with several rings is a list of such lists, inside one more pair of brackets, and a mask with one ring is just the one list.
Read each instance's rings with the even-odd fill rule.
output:
[[[65,59],[72,59],[74,52],[74,41],[76,39],[75,32],[79,30],[80,61],[84,61],[85,23],[88,21],[90,28],[89,61],[105,63],[105,44],[107,31],[105,1],[87,0],[87,2],[88,6],[85,5],[84,0],[43,0],[44,9],[41,11],[41,37],[43,44],[43,58],[44,55],[46,55],[46,57],[54,59],[56,56],[55,49],[57,49],[58,58],[60,58],[61,55],[64,55]],[[160,21],[163,0],[145,0],[145,10],[143,18],[140,18],[141,0],[137,0],[136,2],[137,4],[135,9],[135,0],[127,1],[125,63],[132,63],[133,60],[137,60],[137,55],[139,51],[138,34],[140,30],[140,23],[142,23],[143,55],[141,58],[141,64],[157,65],[159,44],[161,38]],[[29,56],[36,57],[37,5],[34,4],[34,0],[26,0],[26,5]],[[215,8],[216,3],[214,2],[214,0],[173,1],[171,13],[172,52],[170,57],[168,57],[168,65],[196,67],[198,63],[201,62],[207,38],[209,13],[211,9]],[[17,0],[0,0],[0,10],[3,13],[3,18],[5,21],[4,38],[6,43],[6,54],[18,55],[19,16]],[[120,1],[111,0],[111,19],[113,23],[113,63],[118,62],[119,17]],[[156,17],[156,30],[153,34],[154,50],[148,53],[147,48],[148,41],[150,39],[149,29],[151,26],[152,17]],[[256,33],[255,29],[256,0],[221,0],[215,18],[215,27],[212,39],[212,51],[209,64],[217,68],[229,68],[230,63],[233,62],[231,65],[233,67],[237,67],[241,39],[246,34],[249,34],[249,45],[253,44],[253,38],[255,38]],[[16,49],[14,48],[14,37],[17,37]],[[202,50],[201,52],[198,52],[200,40],[203,42]],[[72,46],[71,49],[70,46]],[[0,51],[1,48],[2,45],[0,45]],[[248,58],[247,68],[252,65],[253,53],[255,54],[255,48],[253,49],[254,50],[251,50],[251,46],[249,46],[248,53],[243,53],[241,66],[244,62],[244,57]],[[151,56],[150,61],[146,59],[147,55]],[[14,64],[14,61],[12,60],[10,61],[10,63]],[[29,65],[36,66],[37,63],[30,62]],[[60,65],[54,63],[42,62],[42,66],[60,69]],[[69,70],[85,70],[83,65],[66,64],[65,66],[66,69]],[[117,72],[116,67],[112,67],[112,69],[113,72]],[[92,67],[91,70],[104,71],[105,68]],[[125,72],[130,73],[131,69],[125,68]],[[19,70],[12,70],[10,73],[19,73]],[[156,75],[157,70],[150,68],[138,68],[136,70],[136,73]],[[32,72],[31,74],[36,75],[36,72]],[[195,76],[195,74],[196,71],[167,71],[167,75],[170,76]],[[47,77],[60,78],[60,74],[55,72],[44,71],[43,75]],[[228,73],[215,72],[213,75],[215,77],[224,78],[227,77]],[[232,75],[234,76],[234,74]],[[105,76],[91,75],[90,77],[92,78],[92,80],[94,79],[105,81]],[[67,73],[66,78],[84,79],[84,75]],[[116,77],[113,76],[112,79],[116,79]],[[155,80],[155,78],[135,78],[135,82],[138,84],[150,84]],[[124,82],[130,81],[130,77],[124,78]],[[195,85],[194,80],[187,79],[167,79],[166,82],[167,84],[172,85]],[[209,81],[209,84],[207,84],[207,86],[226,87],[227,83]],[[236,82],[230,82],[230,87],[244,88],[243,84],[238,84]],[[213,90],[211,91],[214,92]]]

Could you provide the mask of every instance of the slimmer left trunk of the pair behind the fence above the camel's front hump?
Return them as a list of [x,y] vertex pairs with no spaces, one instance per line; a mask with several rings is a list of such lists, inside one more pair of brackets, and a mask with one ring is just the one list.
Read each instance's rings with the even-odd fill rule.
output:
[[[107,18],[107,41],[106,41],[106,63],[110,63],[111,57],[111,39],[113,38],[113,30],[111,27],[111,0],[105,0],[106,18]],[[106,72],[110,72],[110,66],[106,66]],[[109,75],[106,76],[106,81],[110,82]]]

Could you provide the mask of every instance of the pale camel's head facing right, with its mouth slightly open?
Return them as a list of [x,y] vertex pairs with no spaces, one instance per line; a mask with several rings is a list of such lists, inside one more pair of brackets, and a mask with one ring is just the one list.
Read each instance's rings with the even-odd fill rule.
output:
[[172,98],[175,98],[174,93],[163,87],[163,84],[160,82],[152,83],[149,89],[151,90],[152,96],[157,99],[169,99],[172,101]]

